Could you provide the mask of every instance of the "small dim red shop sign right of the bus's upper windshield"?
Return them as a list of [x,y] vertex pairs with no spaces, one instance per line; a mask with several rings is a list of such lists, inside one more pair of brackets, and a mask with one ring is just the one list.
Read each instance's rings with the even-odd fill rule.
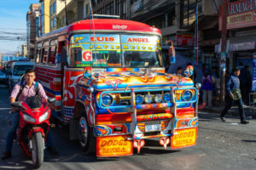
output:
[[177,47],[193,47],[194,34],[177,32]]

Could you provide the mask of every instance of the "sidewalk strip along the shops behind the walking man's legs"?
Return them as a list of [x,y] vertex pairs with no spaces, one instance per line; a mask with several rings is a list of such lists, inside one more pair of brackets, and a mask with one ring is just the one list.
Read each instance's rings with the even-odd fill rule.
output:
[[[256,108],[254,106],[254,110],[252,108],[250,108],[247,105],[243,105],[243,109],[245,111],[246,116],[252,116],[252,118],[256,119]],[[220,114],[221,111],[224,110],[224,107],[221,106],[212,106],[211,109],[209,108],[205,108],[203,110],[199,110],[199,111],[209,111],[212,113],[216,113],[216,114]],[[238,111],[238,106],[232,106],[230,108],[230,111],[228,111],[228,114],[231,116],[239,116],[239,111]]]

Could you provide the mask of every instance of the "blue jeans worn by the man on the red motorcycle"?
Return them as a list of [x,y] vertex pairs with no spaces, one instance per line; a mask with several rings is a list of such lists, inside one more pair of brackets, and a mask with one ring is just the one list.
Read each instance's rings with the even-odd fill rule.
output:
[[[7,134],[7,140],[6,140],[6,146],[5,146],[5,151],[7,152],[10,152],[12,150],[14,139],[15,139],[15,133],[19,126],[19,122],[20,122],[20,113],[19,112],[13,113],[12,119],[11,119],[11,126]],[[46,147],[51,147],[51,146],[53,146],[53,140],[52,140],[52,135],[49,129],[49,133],[46,139]]]

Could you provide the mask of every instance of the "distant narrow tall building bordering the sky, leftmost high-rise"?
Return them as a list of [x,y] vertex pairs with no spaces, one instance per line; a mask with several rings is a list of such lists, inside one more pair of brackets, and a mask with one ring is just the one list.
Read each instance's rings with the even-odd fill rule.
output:
[[30,10],[26,14],[26,44],[27,56],[33,59],[34,46],[39,37],[39,9],[40,3],[32,3]]

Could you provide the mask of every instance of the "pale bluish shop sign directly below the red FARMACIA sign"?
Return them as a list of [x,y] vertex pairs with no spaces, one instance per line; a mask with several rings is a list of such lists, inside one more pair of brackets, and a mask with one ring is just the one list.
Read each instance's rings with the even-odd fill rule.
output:
[[[215,45],[215,52],[218,53],[220,45]],[[246,51],[255,49],[255,42],[230,43],[228,51]]]

